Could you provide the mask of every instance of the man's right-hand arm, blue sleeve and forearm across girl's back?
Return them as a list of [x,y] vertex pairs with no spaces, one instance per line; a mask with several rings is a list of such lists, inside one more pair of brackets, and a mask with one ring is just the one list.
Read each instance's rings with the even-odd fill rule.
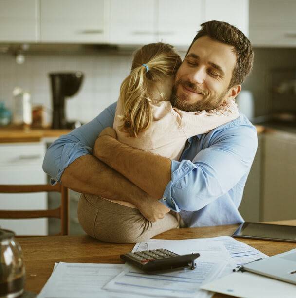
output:
[[[169,208],[195,211],[228,192],[247,173],[257,149],[255,127],[235,126],[209,133],[209,146],[193,161],[172,161],[130,148],[105,136],[95,155]],[[171,167],[170,167],[171,165]],[[171,177],[170,176],[171,173]]]

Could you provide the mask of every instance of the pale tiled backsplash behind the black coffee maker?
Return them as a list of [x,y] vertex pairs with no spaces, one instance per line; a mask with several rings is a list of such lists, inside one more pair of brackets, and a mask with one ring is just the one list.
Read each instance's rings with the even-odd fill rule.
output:
[[0,55],[0,101],[11,108],[15,86],[31,93],[32,105],[48,108],[51,121],[51,87],[48,73],[81,71],[84,81],[79,92],[66,101],[68,120],[88,122],[116,101],[122,80],[129,74],[131,53],[128,54],[38,54],[26,55],[24,64],[15,57]]

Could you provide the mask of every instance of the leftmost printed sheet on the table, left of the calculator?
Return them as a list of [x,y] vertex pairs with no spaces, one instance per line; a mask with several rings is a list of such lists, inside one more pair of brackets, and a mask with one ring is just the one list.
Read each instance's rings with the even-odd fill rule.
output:
[[[115,298],[102,287],[124,268],[123,264],[58,263],[38,298]],[[134,297],[137,296],[121,296]]]

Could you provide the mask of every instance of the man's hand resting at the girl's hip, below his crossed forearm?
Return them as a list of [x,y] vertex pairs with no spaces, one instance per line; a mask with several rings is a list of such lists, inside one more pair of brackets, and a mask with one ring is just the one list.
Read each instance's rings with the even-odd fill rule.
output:
[[152,223],[164,218],[165,214],[170,211],[164,204],[155,201],[155,199],[149,196],[142,200],[137,200],[136,205],[142,215]]

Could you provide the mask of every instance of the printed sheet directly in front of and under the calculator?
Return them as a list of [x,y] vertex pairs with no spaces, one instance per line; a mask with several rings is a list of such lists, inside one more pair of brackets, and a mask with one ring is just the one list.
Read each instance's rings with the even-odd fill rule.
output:
[[188,268],[171,272],[147,274],[135,267],[128,267],[104,287],[120,293],[135,293],[156,297],[201,297],[212,293],[200,286],[219,276],[225,262],[198,262],[196,269]]

